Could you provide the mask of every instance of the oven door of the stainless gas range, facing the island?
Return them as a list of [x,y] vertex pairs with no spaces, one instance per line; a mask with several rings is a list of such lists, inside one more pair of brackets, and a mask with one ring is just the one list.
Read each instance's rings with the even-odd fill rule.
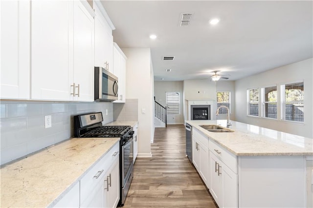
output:
[[127,181],[131,168],[133,167],[133,137],[122,146],[122,181],[123,187]]

